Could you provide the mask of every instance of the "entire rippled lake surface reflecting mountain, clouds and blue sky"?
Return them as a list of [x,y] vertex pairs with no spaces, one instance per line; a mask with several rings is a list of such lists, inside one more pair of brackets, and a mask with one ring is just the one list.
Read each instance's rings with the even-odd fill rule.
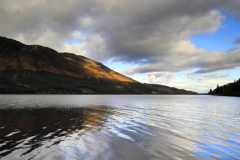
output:
[[0,95],[0,158],[240,159],[240,98]]

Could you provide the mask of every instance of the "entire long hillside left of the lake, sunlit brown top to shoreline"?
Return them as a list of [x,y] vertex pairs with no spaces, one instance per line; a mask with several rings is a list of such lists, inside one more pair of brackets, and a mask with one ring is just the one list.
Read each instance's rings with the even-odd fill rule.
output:
[[0,37],[0,94],[198,94],[142,84],[102,63]]

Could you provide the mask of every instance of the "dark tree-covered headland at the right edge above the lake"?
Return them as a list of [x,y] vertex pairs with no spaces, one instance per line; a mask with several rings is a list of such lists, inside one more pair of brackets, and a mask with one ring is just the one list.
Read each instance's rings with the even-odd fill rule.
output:
[[220,96],[238,96],[240,97],[240,78],[233,82],[223,86],[217,85],[214,90],[210,89],[209,95],[220,95]]

